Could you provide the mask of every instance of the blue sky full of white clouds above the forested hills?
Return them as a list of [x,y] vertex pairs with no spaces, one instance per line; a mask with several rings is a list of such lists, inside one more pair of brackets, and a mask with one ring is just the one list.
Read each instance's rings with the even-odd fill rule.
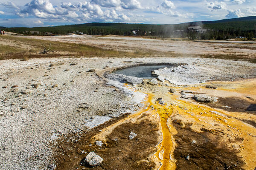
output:
[[0,26],[176,24],[256,16],[256,0],[1,0]]

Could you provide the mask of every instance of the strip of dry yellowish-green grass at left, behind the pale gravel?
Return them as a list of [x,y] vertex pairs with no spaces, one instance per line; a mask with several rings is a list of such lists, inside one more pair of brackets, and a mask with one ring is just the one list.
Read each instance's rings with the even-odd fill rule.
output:
[[[134,52],[108,50],[84,44],[56,42],[53,41],[49,54],[39,54],[43,51],[43,45],[50,44],[47,40],[28,39],[23,37],[4,36],[0,40],[11,41],[13,46],[0,45],[0,59],[21,59],[41,57],[148,57],[157,53],[157,51],[141,51],[137,49]],[[17,46],[26,45],[31,48],[20,48]]]

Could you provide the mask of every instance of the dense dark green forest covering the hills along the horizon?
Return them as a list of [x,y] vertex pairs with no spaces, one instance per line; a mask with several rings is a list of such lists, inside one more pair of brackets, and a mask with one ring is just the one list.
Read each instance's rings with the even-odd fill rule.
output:
[[[200,29],[195,27],[199,26]],[[254,40],[256,37],[256,16],[218,21],[200,21],[181,24],[126,24],[126,23],[86,23],[77,25],[4,28],[21,34],[89,34],[89,35],[146,35],[152,37],[189,38],[192,40],[225,40],[242,37]],[[26,32],[25,32],[26,31]],[[31,31],[31,32],[30,32]],[[136,33],[134,34],[133,33]]]

